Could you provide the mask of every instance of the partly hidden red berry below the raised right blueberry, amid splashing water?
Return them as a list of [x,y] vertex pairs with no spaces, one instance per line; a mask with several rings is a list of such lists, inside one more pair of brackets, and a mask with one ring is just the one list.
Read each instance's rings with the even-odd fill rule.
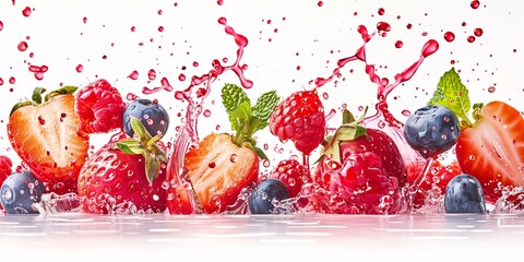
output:
[[[424,163],[412,163],[406,165],[409,184],[413,184],[415,179],[424,169]],[[461,167],[456,160],[449,165],[442,165],[438,159],[431,163],[431,167],[421,181],[420,187],[413,195],[413,207],[418,210],[426,204],[434,204],[441,201],[444,195],[445,186],[455,176],[462,174]]]

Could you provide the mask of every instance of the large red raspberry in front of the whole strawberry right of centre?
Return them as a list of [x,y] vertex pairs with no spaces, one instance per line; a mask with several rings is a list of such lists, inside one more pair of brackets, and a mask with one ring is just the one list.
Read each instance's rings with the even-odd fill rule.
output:
[[[329,170],[330,168],[325,168]],[[324,181],[325,176],[324,175]],[[329,171],[329,191],[340,195],[344,204],[337,209],[349,214],[396,214],[402,207],[398,180],[388,176],[377,154],[349,155],[342,166]]]

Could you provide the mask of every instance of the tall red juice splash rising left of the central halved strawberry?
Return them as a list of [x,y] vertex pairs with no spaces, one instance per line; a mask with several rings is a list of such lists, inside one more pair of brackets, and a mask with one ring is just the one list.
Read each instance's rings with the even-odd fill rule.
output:
[[[213,60],[212,70],[210,70],[206,74],[192,76],[191,82],[186,90],[175,92],[175,98],[187,102],[188,107],[186,110],[186,117],[182,118],[182,122],[180,124],[181,128],[178,130],[176,140],[172,142],[172,150],[169,152],[167,179],[171,187],[168,188],[167,194],[168,207],[171,214],[202,213],[199,200],[192,190],[191,180],[187,177],[184,171],[183,160],[186,152],[188,152],[190,146],[199,143],[199,134],[196,130],[198,119],[199,116],[204,111],[203,103],[210,94],[211,84],[221,74],[231,70],[238,76],[241,85],[245,88],[250,88],[253,85],[253,82],[243,76],[243,70],[247,69],[247,67],[245,67],[245,64],[240,64],[243,49],[248,45],[248,38],[246,38],[243,35],[237,34],[233,27],[227,25],[227,20],[225,17],[218,19],[218,23],[224,25],[225,32],[234,37],[235,43],[238,46],[237,59],[231,66],[223,66],[219,60]],[[176,187],[183,188],[184,190],[174,190]],[[190,206],[176,203],[178,202],[176,200],[180,198],[189,199]]]

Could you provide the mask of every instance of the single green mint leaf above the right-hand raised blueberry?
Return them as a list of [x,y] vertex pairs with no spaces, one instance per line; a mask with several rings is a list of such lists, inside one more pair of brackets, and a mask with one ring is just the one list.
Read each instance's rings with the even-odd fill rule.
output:
[[468,91],[462,83],[455,68],[452,68],[440,78],[437,90],[428,105],[444,106],[469,126],[472,124],[467,118],[467,114],[472,108]]

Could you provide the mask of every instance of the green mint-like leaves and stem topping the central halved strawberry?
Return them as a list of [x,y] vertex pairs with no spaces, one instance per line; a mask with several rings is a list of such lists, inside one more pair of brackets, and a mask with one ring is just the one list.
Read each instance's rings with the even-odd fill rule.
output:
[[231,130],[235,131],[231,139],[237,146],[251,147],[260,158],[267,159],[265,153],[257,146],[253,134],[267,127],[278,99],[276,91],[270,91],[262,94],[254,106],[251,106],[251,100],[241,87],[235,84],[224,85],[222,103],[229,115]]

